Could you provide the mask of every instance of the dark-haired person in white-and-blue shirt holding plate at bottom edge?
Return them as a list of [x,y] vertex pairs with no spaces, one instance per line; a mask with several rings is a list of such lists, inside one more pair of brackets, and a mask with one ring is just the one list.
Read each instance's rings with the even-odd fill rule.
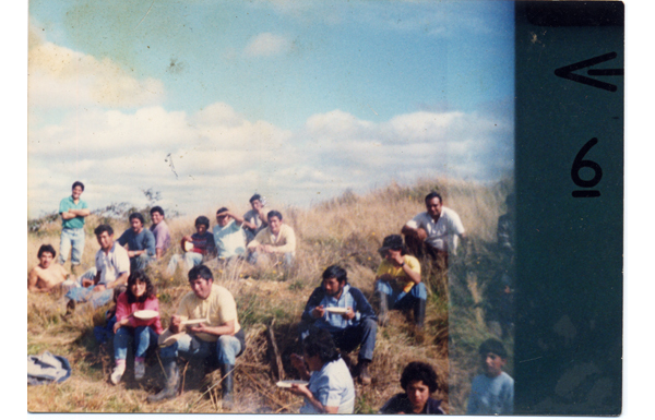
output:
[[302,340],[302,349],[303,357],[291,355],[291,363],[309,384],[293,384],[289,388],[305,397],[300,413],[353,413],[355,384],[332,335],[326,329],[312,328]]

